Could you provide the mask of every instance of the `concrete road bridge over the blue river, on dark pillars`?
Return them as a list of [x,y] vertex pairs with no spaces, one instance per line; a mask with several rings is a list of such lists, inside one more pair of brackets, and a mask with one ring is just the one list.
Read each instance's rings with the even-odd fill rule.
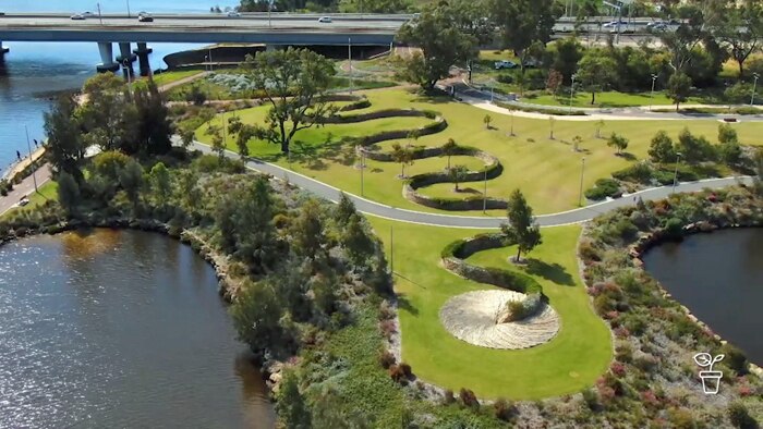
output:
[[[69,14],[26,13],[0,16],[2,41],[94,41],[101,63],[98,71],[116,71],[138,58],[142,74],[150,70],[148,42],[250,42],[268,48],[288,45],[389,45],[411,15],[334,14],[320,23],[319,14],[252,13],[229,17],[220,14],[153,14],[153,22],[134,15],[109,14],[72,20]],[[113,44],[119,54],[113,56]],[[137,44],[132,49],[131,44]]]

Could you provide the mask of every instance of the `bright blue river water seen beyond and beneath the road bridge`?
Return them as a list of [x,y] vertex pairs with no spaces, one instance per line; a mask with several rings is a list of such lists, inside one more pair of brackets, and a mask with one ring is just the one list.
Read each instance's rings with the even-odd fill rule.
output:
[[[148,12],[209,12],[209,7],[220,8],[238,4],[235,0],[130,0],[132,13]],[[101,0],[104,13],[125,13],[124,0]],[[2,12],[84,12],[96,11],[93,0],[0,0]],[[11,48],[5,54],[4,70],[0,68],[0,173],[16,159],[16,150],[25,154],[24,125],[29,128],[29,138],[40,140],[44,136],[43,112],[48,109],[51,91],[76,89],[95,73],[100,62],[96,44],[49,44],[2,40]],[[164,68],[168,53],[192,49],[201,45],[149,44],[153,69]],[[133,45],[133,49],[135,46]],[[114,54],[119,52],[113,46]],[[137,71],[137,64],[134,70]]]

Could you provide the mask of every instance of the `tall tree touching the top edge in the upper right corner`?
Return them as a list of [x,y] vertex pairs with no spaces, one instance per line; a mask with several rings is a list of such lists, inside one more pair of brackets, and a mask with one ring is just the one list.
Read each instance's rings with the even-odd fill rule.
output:
[[763,5],[755,0],[730,2],[720,16],[714,28],[716,39],[739,65],[739,77],[743,77],[744,61],[763,40]]

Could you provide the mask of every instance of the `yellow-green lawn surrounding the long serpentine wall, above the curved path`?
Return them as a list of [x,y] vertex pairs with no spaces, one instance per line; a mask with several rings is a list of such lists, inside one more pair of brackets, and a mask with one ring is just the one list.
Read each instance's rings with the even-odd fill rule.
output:
[[[549,122],[514,118],[516,136],[509,136],[511,118],[499,113],[491,113],[494,130],[486,130],[483,118],[486,111],[464,103],[431,99],[410,94],[402,89],[367,91],[366,95],[373,106],[367,110],[388,108],[416,108],[429,109],[440,112],[448,121],[449,126],[437,134],[419,138],[415,145],[440,146],[448,138],[465,146],[473,146],[497,156],[504,164],[500,176],[488,181],[487,194],[494,197],[507,198],[514,188],[521,188],[536,213],[549,213],[569,210],[577,207],[581,160],[585,157],[584,188],[589,188],[597,179],[608,177],[611,172],[628,167],[630,163],[645,159],[650,142],[658,130],[666,131],[674,139],[678,133],[689,126],[692,133],[705,135],[711,142],[717,139],[718,122],[707,121],[606,121],[602,128],[602,135],[613,132],[622,134],[630,140],[626,150],[633,160],[615,156],[615,150],[606,146],[603,138],[594,138],[595,122],[572,122],[557,120],[554,124],[555,139],[549,139]],[[265,114],[264,108],[247,109],[240,113],[242,120],[250,123],[262,122]],[[227,113],[232,115],[232,113]],[[221,120],[214,119],[220,124]],[[349,193],[361,194],[360,171],[354,167],[354,151],[352,147],[340,145],[341,136],[361,136],[382,130],[401,130],[420,126],[428,120],[422,118],[391,118],[385,120],[368,121],[356,124],[327,125],[300,132],[298,140],[292,148],[291,163],[279,152],[276,145],[264,142],[251,142],[250,152],[254,157],[262,157],[268,161],[283,167],[290,167],[294,171],[326,182],[332,186],[342,188]],[[759,138],[761,124],[744,122],[732,125],[743,144],[763,145]],[[199,140],[209,143],[209,136],[204,134],[206,126],[202,126],[196,136]],[[572,151],[572,137],[579,135],[583,138],[581,152]],[[233,138],[228,136],[229,147],[235,150]],[[379,144],[384,150],[388,150],[392,143]],[[405,139],[400,144],[408,144]],[[458,161],[461,162],[461,161]],[[412,167],[407,168],[407,174],[437,171],[446,167],[445,158],[429,158],[416,160]],[[474,166],[471,163],[470,166]],[[472,168],[470,167],[470,168]],[[479,163],[476,164],[479,168]],[[364,170],[363,196],[390,206],[444,212],[419,206],[403,198],[401,183],[397,179],[400,166],[390,162],[367,161]],[[482,183],[464,184],[476,192],[482,192]],[[440,184],[421,189],[427,195],[453,196],[452,185]],[[452,212],[451,212],[452,213]],[[481,211],[459,212],[460,214],[480,214]],[[504,216],[502,210],[488,211],[488,216]]]

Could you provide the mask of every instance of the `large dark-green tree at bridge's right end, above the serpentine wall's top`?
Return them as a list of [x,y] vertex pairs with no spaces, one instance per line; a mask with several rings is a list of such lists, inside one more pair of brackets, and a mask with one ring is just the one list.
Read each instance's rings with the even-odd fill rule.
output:
[[476,37],[464,33],[458,15],[446,3],[424,7],[421,16],[400,27],[398,41],[421,48],[402,60],[400,77],[431,90],[450,75],[450,66],[476,57]]

